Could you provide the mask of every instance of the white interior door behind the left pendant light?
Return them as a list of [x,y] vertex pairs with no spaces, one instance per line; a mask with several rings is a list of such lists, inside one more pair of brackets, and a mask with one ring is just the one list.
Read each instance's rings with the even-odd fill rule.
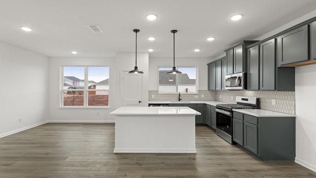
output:
[[143,76],[123,71],[121,80],[122,106],[142,106]]

